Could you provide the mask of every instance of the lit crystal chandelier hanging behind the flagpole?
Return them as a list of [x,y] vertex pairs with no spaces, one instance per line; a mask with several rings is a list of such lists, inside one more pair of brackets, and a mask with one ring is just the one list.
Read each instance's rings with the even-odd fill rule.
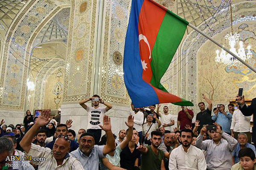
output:
[[[239,37],[240,34],[233,34],[233,24],[232,24],[232,7],[231,7],[231,1],[230,1],[230,15],[231,15],[231,33],[227,34],[225,36],[225,39],[229,41],[229,45],[230,45],[230,51],[233,52],[234,54],[236,54],[238,57],[240,57],[242,60],[247,60],[250,59],[250,57],[252,57],[252,52],[250,51],[250,45],[247,46],[247,54],[245,54],[245,49],[244,49],[244,45],[243,42],[240,41],[239,42]],[[236,51],[236,43],[239,42],[239,49],[238,51]],[[234,64],[239,64],[239,60],[236,59],[235,57],[233,57],[231,54],[226,54],[226,51],[224,51],[224,49],[221,49],[221,53],[219,50],[216,50],[216,58],[215,58],[215,62],[221,62],[224,63],[225,65],[234,65]]]

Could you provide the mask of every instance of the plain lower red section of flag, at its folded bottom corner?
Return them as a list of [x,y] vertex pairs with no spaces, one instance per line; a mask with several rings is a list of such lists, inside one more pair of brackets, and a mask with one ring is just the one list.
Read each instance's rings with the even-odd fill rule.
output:
[[158,88],[155,88],[151,85],[152,88],[154,88],[154,91],[157,94],[159,103],[171,103],[171,102],[181,102],[180,97],[175,96],[173,94],[166,93],[164,91],[159,90]]

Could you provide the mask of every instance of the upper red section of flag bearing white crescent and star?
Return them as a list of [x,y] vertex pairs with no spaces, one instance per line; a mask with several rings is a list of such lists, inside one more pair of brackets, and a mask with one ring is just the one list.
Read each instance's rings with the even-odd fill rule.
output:
[[150,83],[152,78],[151,51],[165,14],[166,9],[159,8],[157,3],[151,0],[144,0],[139,15],[138,31],[140,59],[143,65],[142,78],[147,83]]

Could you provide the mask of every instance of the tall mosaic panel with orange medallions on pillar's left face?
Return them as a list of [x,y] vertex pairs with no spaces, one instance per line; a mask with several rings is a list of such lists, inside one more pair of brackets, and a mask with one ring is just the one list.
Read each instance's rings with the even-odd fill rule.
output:
[[63,102],[76,102],[91,94],[98,3],[95,0],[71,1]]

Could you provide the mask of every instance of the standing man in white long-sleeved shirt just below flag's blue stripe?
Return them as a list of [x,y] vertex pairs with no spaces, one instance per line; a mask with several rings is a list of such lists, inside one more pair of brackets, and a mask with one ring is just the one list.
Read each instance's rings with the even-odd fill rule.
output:
[[142,125],[144,121],[144,114],[140,111],[140,108],[134,108],[134,111],[130,112],[134,116],[134,128],[137,130],[140,137],[140,144],[142,139]]

